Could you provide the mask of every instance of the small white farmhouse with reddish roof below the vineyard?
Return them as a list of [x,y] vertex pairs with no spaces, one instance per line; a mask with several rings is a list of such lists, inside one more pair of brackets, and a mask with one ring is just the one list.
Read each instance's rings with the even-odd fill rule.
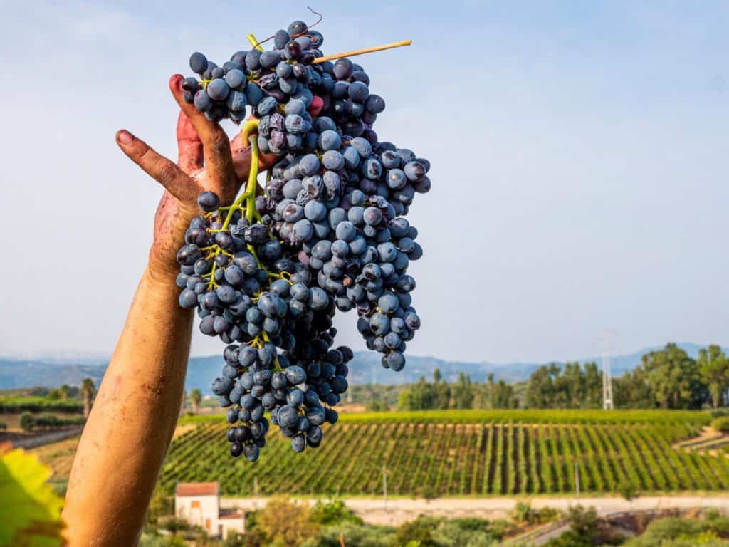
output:
[[243,513],[221,511],[219,502],[217,482],[181,482],[175,489],[175,516],[223,539],[231,530],[246,532]]

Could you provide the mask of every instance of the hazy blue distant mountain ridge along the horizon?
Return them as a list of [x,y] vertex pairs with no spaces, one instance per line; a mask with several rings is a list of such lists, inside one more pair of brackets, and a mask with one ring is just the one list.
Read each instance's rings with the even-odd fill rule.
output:
[[[692,357],[698,355],[702,347],[698,344],[678,344]],[[620,376],[626,371],[632,371],[641,362],[642,355],[660,349],[662,346],[653,346],[641,349],[631,354],[617,355],[610,358],[613,376]],[[580,362],[597,362],[601,367],[601,357],[588,357]],[[380,354],[375,352],[356,352],[354,360],[350,363],[350,383],[359,384],[410,384],[418,381],[421,376],[430,379],[436,368],[440,369],[443,377],[449,381],[456,381],[459,373],[468,374],[473,381],[486,381],[489,373],[494,373],[496,379],[504,381],[524,381],[529,375],[547,362],[460,362],[445,361],[435,357],[408,356],[408,365],[400,373],[385,371],[380,365]],[[558,364],[563,364],[559,362]],[[203,394],[210,390],[212,379],[220,373],[222,357],[191,357],[187,365],[187,378],[185,389],[198,388]],[[82,379],[92,378],[97,384],[104,376],[106,362],[98,357],[79,357],[71,360],[62,359],[14,359],[0,357],[0,389],[17,389],[20,387],[58,387],[61,384],[79,385]]]

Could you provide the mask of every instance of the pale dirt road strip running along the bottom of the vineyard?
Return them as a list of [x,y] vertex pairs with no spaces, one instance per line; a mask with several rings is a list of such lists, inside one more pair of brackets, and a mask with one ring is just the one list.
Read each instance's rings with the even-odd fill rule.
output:
[[[302,498],[308,503],[316,503],[317,498]],[[500,519],[509,516],[517,502],[529,502],[538,509],[551,507],[566,511],[571,505],[593,506],[601,515],[620,511],[647,511],[651,509],[689,509],[717,507],[729,509],[729,494],[685,495],[685,496],[647,496],[626,501],[622,497],[441,497],[434,500],[397,498],[343,498],[344,503],[365,522],[370,524],[389,524],[397,526],[402,522],[416,519],[418,515],[480,516],[484,519]],[[261,508],[265,497],[222,498],[221,507],[252,510]]]

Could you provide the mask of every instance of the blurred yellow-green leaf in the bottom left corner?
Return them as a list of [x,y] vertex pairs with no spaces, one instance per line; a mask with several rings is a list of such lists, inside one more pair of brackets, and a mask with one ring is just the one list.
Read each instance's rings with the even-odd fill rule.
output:
[[63,500],[46,484],[50,475],[50,468],[22,449],[0,457],[0,546],[63,545]]

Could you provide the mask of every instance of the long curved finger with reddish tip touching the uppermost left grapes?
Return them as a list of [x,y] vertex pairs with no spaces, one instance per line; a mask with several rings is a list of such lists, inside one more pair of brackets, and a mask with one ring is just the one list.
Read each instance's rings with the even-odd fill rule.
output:
[[230,140],[217,123],[211,122],[195,106],[184,101],[182,79],[180,74],[175,74],[170,78],[172,96],[174,96],[184,115],[190,119],[192,127],[195,128],[200,141],[203,143],[203,156],[208,180],[220,189],[226,189],[230,185],[230,176],[233,174]]

